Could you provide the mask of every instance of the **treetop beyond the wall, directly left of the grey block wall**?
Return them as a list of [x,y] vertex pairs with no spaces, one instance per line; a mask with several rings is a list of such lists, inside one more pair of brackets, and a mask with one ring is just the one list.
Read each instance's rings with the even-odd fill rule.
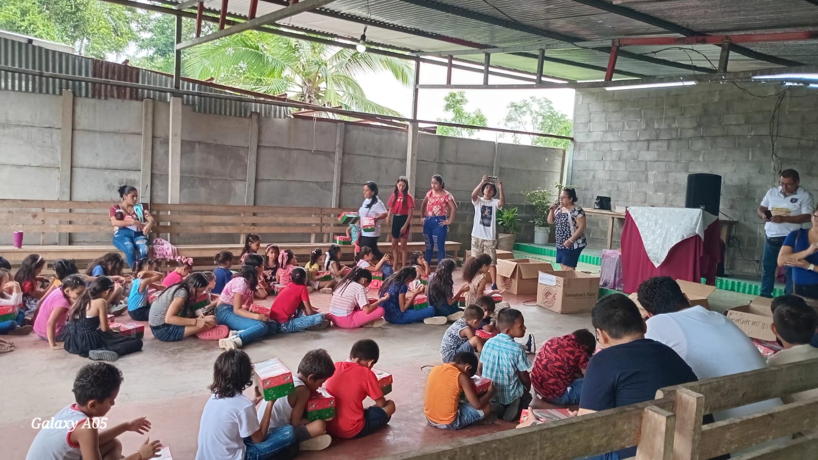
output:
[[[573,122],[563,113],[557,111],[550,100],[545,97],[529,97],[524,101],[510,102],[508,113],[503,120],[506,128],[533,133],[557,134],[570,136]],[[541,138],[539,136],[522,136],[512,134],[515,144],[522,143],[524,138],[531,138],[533,146],[568,148],[567,139]]]

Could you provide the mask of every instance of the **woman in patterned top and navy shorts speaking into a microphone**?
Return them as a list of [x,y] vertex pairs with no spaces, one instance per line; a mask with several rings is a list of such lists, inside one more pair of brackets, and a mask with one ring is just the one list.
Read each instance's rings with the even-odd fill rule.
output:
[[579,255],[588,243],[585,239],[585,211],[576,205],[577,191],[564,188],[559,201],[548,211],[548,223],[554,225],[557,243],[557,264],[563,270],[573,270],[579,263]]

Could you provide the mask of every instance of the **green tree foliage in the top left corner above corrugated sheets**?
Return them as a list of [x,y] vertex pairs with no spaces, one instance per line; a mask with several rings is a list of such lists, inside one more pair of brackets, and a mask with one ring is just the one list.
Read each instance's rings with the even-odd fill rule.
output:
[[137,39],[142,11],[98,0],[0,0],[0,29],[73,45],[80,55],[105,59]]

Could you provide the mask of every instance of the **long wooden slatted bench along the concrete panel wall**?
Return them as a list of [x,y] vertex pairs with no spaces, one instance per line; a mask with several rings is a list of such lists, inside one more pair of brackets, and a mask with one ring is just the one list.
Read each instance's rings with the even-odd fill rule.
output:
[[[102,201],[40,201],[0,200],[0,232],[25,232],[24,246],[0,246],[0,255],[17,266],[29,254],[39,254],[52,262],[56,259],[75,259],[80,266],[108,252],[119,252],[110,239],[113,228],[108,210],[112,203]],[[302,208],[285,206],[236,206],[236,205],[150,205],[157,225],[152,235],[169,239],[178,247],[179,253],[191,257],[196,268],[212,268],[213,255],[220,250],[230,250],[239,255],[248,233],[258,233],[264,244],[276,242],[284,249],[293,250],[302,258],[320,247],[327,250],[334,235],[344,235],[346,226],[338,223],[338,208]],[[420,218],[413,219],[412,236],[422,233]],[[384,223],[378,248],[391,250],[388,225]],[[97,241],[92,245],[67,244],[71,236],[92,234]],[[30,245],[32,237],[38,237],[38,245]],[[185,239],[209,238],[217,243],[186,243]],[[93,239],[93,238],[92,238]],[[294,239],[299,242],[285,242]],[[62,244],[56,244],[57,242]],[[181,242],[180,242],[181,241]],[[281,241],[281,242],[279,242]],[[304,242],[309,241],[309,242]],[[52,243],[52,244],[48,244]],[[423,250],[422,241],[411,241],[410,250]],[[461,244],[446,241],[447,254],[457,258]],[[352,249],[344,250],[344,260],[352,260]]]

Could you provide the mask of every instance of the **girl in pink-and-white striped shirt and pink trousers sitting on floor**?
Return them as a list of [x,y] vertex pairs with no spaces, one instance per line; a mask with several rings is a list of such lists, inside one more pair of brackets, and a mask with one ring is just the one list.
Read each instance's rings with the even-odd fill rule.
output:
[[372,282],[372,272],[366,268],[353,268],[341,280],[330,300],[330,320],[337,327],[381,327],[384,325],[384,308],[380,306],[389,300],[389,294],[370,301],[366,288]]

